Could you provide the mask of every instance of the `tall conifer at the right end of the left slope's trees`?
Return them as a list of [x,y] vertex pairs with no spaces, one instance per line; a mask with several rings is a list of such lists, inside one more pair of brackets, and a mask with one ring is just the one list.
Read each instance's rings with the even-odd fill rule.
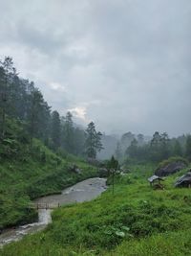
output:
[[91,122],[86,129],[85,153],[88,157],[96,159],[97,151],[103,149],[101,136],[101,132],[96,132],[95,124]]

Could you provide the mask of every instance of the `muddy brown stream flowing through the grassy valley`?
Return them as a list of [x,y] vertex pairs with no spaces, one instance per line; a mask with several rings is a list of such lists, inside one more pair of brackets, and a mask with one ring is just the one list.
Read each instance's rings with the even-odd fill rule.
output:
[[[49,204],[51,207],[57,207],[58,205],[91,200],[100,195],[106,188],[105,178],[94,177],[81,181],[74,186],[63,190],[60,195],[38,198],[33,202],[36,204]],[[27,234],[42,230],[52,221],[51,212],[52,210],[50,209],[39,209],[38,222],[21,225],[4,231],[0,235],[0,246],[9,244],[13,241],[18,241]]]

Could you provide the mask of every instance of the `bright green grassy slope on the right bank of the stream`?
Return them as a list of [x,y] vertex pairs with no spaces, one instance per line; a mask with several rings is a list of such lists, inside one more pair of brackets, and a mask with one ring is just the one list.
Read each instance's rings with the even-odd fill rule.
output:
[[0,255],[191,255],[190,190],[173,187],[186,170],[167,177],[163,191],[149,186],[153,171],[135,166],[117,177],[114,196],[108,189],[91,202],[56,209],[46,230]]

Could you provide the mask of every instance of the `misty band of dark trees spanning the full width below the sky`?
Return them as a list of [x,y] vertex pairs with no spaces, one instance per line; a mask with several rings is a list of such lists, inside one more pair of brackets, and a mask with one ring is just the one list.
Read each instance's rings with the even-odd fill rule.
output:
[[[33,138],[38,138],[50,149],[62,151],[62,154],[72,153],[91,158],[100,155],[105,159],[115,153],[120,161],[134,159],[152,162],[176,155],[188,159],[191,157],[190,135],[170,139],[166,132],[156,131],[153,137],[146,137],[141,133],[135,135],[128,131],[117,142],[117,137],[97,132],[93,122],[86,130],[76,126],[71,112],[60,116],[58,111],[52,111],[34,82],[18,76],[11,57],[0,62],[0,98],[2,147],[7,147],[6,139],[11,139],[9,118],[12,118],[22,123],[25,139],[31,141],[31,144]],[[103,148],[105,150],[100,154]]]

